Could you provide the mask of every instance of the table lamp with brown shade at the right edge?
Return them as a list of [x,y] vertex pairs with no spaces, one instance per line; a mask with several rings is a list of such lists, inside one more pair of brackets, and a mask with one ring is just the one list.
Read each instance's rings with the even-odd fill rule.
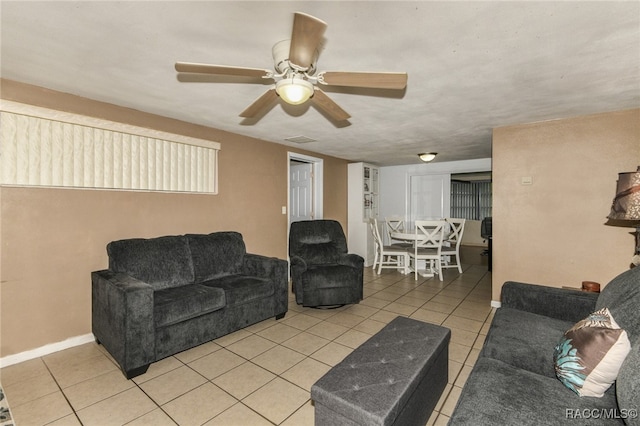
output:
[[607,217],[617,225],[636,228],[632,263],[640,265],[640,167],[635,172],[618,174],[616,196]]

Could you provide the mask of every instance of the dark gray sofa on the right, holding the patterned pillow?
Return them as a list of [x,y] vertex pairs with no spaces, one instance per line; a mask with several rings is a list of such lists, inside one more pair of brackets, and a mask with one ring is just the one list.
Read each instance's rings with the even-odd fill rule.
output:
[[[602,398],[555,376],[554,346],[576,322],[609,308],[631,352]],[[588,293],[507,282],[449,425],[640,425],[640,267]]]

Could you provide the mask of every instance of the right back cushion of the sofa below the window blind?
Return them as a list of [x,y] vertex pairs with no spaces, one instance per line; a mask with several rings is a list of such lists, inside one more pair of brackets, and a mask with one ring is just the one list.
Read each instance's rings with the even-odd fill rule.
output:
[[247,252],[242,234],[229,231],[208,235],[187,234],[186,237],[193,257],[196,282],[242,271]]

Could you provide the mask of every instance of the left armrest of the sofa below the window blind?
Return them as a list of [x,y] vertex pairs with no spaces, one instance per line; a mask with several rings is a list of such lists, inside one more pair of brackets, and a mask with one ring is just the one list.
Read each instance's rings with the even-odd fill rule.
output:
[[153,288],[124,273],[91,273],[92,331],[125,376],[155,359]]

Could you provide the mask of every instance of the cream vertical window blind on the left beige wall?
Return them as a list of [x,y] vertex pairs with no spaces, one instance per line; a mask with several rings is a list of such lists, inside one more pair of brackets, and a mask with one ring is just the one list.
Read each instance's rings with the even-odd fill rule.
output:
[[[72,114],[53,119],[7,111],[6,103],[2,107],[3,185],[217,193],[215,142]],[[41,115],[56,114],[61,113]]]

